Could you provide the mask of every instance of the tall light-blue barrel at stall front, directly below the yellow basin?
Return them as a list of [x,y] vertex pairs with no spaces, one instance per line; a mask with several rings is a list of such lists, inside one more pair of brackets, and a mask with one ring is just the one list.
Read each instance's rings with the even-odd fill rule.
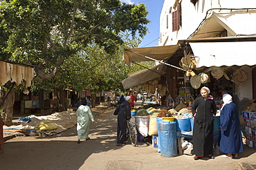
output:
[[177,155],[176,122],[159,122],[161,156],[174,157]]

